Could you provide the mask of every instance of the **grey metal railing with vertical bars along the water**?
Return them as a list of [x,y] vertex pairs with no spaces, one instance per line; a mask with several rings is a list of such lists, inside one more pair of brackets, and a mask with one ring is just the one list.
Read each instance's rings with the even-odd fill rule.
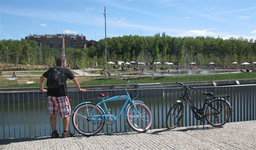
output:
[[[240,122],[256,120],[256,85],[236,85],[217,87],[197,87],[198,90],[191,92],[191,98],[195,106],[200,108],[205,96],[202,92],[213,92],[216,95],[229,94],[228,101],[233,108],[229,122]],[[138,99],[143,101],[150,109],[153,117],[151,129],[166,127],[166,114],[170,107],[182,95],[181,88],[157,88],[157,89],[130,89],[132,97],[139,92]],[[123,95],[123,90],[97,90],[82,93],[78,91],[68,91],[71,108],[76,105],[91,101],[98,103],[98,93],[110,92],[110,96]],[[0,92],[0,138],[10,137],[34,137],[50,136],[51,126],[50,116],[47,114],[47,95],[39,91],[28,92]],[[107,103],[111,113],[116,115],[123,101],[112,101]],[[206,123],[206,122],[205,122]],[[183,126],[200,125],[193,113],[185,105],[185,116],[182,120]],[[100,132],[112,132],[110,125],[105,124]],[[114,132],[132,131],[124,119],[123,114],[113,124]],[[57,130],[63,131],[62,119],[57,115]],[[69,130],[78,134],[70,122]]]

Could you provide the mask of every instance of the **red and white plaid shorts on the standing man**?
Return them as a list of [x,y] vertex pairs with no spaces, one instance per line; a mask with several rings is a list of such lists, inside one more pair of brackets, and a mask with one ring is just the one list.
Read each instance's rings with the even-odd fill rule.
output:
[[62,118],[70,116],[71,109],[68,96],[48,96],[47,113],[50,115],[57,115],[58,111]]

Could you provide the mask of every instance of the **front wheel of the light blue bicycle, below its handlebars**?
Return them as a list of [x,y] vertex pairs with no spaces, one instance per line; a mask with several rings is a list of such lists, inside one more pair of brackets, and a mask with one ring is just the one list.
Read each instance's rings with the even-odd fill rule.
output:
[[150,109],[143,103],[135,102],[136,109],[141,113],[138,116],[137,111],[134,109],[133,104],[127,109],[127,123],[130,128],[136,132],[146,132],[152,124],[152,115]]

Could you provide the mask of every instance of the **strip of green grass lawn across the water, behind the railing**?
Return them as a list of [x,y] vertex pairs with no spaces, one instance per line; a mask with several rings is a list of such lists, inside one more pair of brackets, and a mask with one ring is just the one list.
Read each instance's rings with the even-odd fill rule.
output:
[[[25,72],[26,73],[26,72]],[[33,71],[37,75],[41,75],[44,71]],[[32,74],[32,72],[31,72]],[[12,75],[12,74],[10,74]],[[17,73],[19,75],[19,72]],[[81,86],[83,85],[114,85],[127,84],[123,77],[76,77]],[[175,75],[175,76],[126,76],[134,83],[159,83],[159,82],[193,82],[193,81],[218,81],[218,80],[237,80],[237,79],[256,79],[256,72],[253,73],[226,73],[226,74],[207,74],[207,75]],[[39,87],[40,76],[22,76],[17,80],[9,81],[6,77],[0,78],[0,88],[20,88],[20,87]],[[34,82],[27,84],[27,82]],[[67,81],[68,86],[75,86],[71,81]],[[46,81],[44,81],[46,86]]]

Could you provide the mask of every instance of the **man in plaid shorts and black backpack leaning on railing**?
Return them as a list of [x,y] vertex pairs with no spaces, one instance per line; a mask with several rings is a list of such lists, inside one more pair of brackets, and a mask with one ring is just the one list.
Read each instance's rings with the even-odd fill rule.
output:
[[[73,133],[68,131],[71,107],[67,96],[66,81],[68,79],[72,80],[79,91],[86,92],[87,90],[81,89],[73,73],[68,68],[65,68],[67,64],[65,58],[57,58],[56,64],[57,67],[49,69],[40,77],[40,91],[47,92],[48,95],[47,113],[51,115],[50,123],[53,130],[51,137],[56,138],[59,136],[56,130],[57,111],[59,111],[60,117],[63,118],[64,131],[62,132],[62,137],[71,137]],[[47,78],[47,90],[43,89],[45,78]]]

